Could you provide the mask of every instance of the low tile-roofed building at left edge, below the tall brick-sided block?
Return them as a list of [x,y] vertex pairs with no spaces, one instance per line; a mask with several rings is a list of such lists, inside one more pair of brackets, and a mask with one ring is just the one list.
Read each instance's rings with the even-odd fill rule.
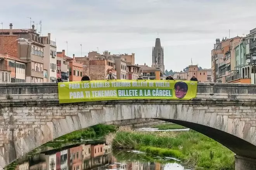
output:
[[25,83],[26,62],[8,54],[0,54],[0,82]]

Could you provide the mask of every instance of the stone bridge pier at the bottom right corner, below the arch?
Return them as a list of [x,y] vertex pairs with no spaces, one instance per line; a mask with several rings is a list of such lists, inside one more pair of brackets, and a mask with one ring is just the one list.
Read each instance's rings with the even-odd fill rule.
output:
[[256,170],[256,159],[235,155],[235,170]]

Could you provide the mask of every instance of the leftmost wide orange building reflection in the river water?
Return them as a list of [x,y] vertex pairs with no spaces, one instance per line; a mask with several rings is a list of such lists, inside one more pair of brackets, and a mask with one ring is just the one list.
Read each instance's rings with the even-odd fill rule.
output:
[[71,170],[81,170],[82,160],[83,160],[82,145],[70,148],[69,151],[70,151],[70,167],[72,168]]

